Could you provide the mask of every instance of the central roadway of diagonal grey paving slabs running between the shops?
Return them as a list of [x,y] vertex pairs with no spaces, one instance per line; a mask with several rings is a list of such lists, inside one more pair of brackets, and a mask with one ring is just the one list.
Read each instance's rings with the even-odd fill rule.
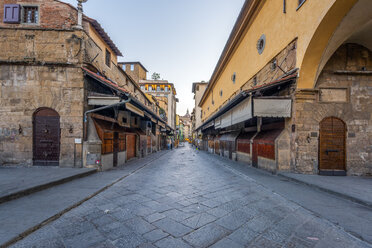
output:
[[371,247],[189,146],[13,247]]

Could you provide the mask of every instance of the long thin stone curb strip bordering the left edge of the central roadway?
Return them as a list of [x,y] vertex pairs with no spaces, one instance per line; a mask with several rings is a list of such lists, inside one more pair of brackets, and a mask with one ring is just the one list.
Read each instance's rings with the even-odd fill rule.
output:
[[142,166],[138,167],[137,169],[131,171],[130,173],[128,173],[127,175],[124,175],[122,177],[120,177],[119,179],[115,180],[114,182],[106,185],[105,187],[99,189],[98,191],[94,192],[93,194],[83,198],[82,200],[78,201],[77,203],[65,208],[64,210],[58,212],[57,214],[49,217],[48,219],[46,220],[43,220],[41,223],[35,225],[34,227],[31,227],[29,229],[27,229],[26,231],[18,234],[18,236],[8,240],[7,242],[3,243],[3,244],[0,244],[0,248],[6,248],[6,247],[9,247],[11,245],[13,245],[14,243],[24,239],[25,237],[27,237],[28,235],[30,235],[31,233],[39,230],[40,228],[42,228],[43,226],[49,224],[50,222],[52,221],[55,221],[57,220],[58,218],[60,218],[62,215],[64,215],[65,213],[69,212],[70,210],[76,208],[76,207],[79,207],[81,204],[83,204],[84,202],[90,200],[91,198],[95,197],[96,195],[98,195],[99,193],[102,193],[103,191],[105,191],[106,189],[110,188],[111,186],[115,185],[116,183],[124,180],[125,178],[135,174],[137,171],[141,170],[142,168],[144,168],[145,166],[149,165],[150,163],[152,163],[153,161],[161,158],[162,156],[168,154],[169,152],[165,152],[164,154],[161,154],[160,156],[158,157],[155,157],[154,159],[151,159],[150,161],[147,161],[145,162]]

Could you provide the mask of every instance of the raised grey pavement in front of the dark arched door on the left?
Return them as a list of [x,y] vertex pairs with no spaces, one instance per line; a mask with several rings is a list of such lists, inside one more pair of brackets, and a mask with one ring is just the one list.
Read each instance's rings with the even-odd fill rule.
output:
[[0,203],[94,172],[89,168],[0,167]]

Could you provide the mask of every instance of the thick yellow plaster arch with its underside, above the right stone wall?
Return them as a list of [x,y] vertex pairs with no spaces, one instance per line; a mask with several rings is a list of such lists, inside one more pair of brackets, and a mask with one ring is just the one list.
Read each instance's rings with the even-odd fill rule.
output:
[[335,1],[306,49],[300,67],[298,88],[313,88],[324,66],[342,44],[358,43],[369,48],[367,44],[371,44],[371,19],[371,1]]

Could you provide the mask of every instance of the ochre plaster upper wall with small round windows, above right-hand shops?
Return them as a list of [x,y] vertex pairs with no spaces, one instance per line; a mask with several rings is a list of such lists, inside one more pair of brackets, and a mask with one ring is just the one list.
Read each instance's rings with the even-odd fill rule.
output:
[[[245,30],[243,38],[217,77],[212,91],[205,96],[205,101],[202,103],[203,111],[206,113],[203,115],[203,121],[216,112],[220,105],[239,91],[242,85],[253,78],[261,68],[296,38],[298,38],[296,67],[303,64],[305,53],[309,53],[309,56],[318,56],[318,54],[312,55],[308,51],[308,46],[323,18],[336,2],[337,8],[335,9],[341,14],[334,17],[335,22],[340,21],[340,15],[346,14],[356,0],[307,0],[299,9],[297,9],[298,1],[287,1],[286,13],[283,13],[283,1],[262,1],[258,12]],[[331,34],[334,28],[334,25],[322,27],[327,34]],[[259,55],[256,45],[262,34],[266,35],[266,46],[263,53]],[[323,43],[321,45],[324,50],[326,44]],[[317,67],[314,64],[312,66]],[[234,72],[236,73],[235,84],[231,80]],[[221,89],[224,92],[223,97],[217,97]],[[214,104],[212,104],[212,95]]]

